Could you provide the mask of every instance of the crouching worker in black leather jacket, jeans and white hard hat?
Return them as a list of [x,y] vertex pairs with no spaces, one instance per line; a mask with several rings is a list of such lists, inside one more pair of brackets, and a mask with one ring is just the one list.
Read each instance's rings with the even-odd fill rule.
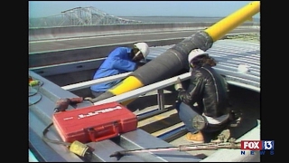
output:
[[178,93],[177,110],[188,133],[186,139],[203,143],[202,132],[215,132],[228,125],[230,105],[228,84],[212,69],[217,63],[208,53],[194,49],[188,55],[191,81],[187,90],[182,82],[174,85]]

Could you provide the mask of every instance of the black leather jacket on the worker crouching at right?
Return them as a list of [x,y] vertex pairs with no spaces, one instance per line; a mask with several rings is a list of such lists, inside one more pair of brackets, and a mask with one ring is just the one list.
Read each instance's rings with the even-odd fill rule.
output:
[[199,112],[212,118],[229,112],[228,84],[208,64],[192,70],[187,91],[180,91],[178,97],[189,106],[197,102]]

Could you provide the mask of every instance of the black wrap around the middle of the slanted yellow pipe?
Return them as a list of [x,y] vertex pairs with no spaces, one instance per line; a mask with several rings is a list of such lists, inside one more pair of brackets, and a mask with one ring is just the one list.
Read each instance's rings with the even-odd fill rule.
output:
[[163,81],[183,68],[188,68],[187,58],[191,50],[200,48],[207,51],[212,43],[210,35],[205,32],[192,34],[191,37],[175,44],[151,62],[147,62],[143,67],[132,72],[130,76],[135,76],[144,85]]

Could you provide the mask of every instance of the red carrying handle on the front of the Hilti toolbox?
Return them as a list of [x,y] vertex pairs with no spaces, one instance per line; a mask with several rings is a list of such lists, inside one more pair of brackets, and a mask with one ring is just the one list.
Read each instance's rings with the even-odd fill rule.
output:
[[119,125],[118,125],[118,122],[115,121],[113,122],[113,125],[109,125],[109,127],[112,127],[112,130],[113,132],[111,134],[108,134],[104,137],[100,137],[100,138],[95,138],[95,135],[96,135],[96,130],[94,128],[89,128],[88,131],[89,131],[89,139],[91,141],[101,141],[101,140],[104,140],[104,139],[111,139],[111,138],[114,138],[114,137],[117,137],[117,135],[119,134]]

